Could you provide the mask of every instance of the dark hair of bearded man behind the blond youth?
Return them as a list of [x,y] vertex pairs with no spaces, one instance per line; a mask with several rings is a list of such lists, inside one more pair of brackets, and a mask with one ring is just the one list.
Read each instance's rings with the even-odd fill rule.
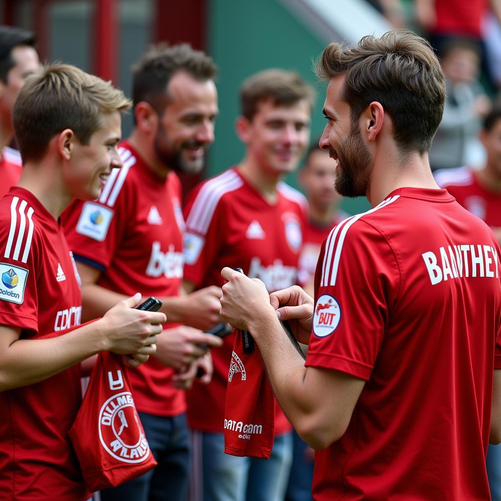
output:
[[151,46],[132,67],[134,106],[145,101],[160,115],[168,103],[166,90],[169,81],[178,71],[204,82],[215,78],[217,67],[212,58],[193,50],[188,44]]

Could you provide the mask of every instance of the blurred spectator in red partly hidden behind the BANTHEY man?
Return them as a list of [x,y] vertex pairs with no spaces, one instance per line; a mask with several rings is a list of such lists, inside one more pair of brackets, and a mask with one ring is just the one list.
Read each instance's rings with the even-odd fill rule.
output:
[[314,276],[320,247],[331,229],[348,217],[339,209],[341,195],[334,189],[336,162],[318,141],[308,150],[299,181],[308,198],[310,214],[303,227],[303,251],[299,258],[299,283],[313,297]]

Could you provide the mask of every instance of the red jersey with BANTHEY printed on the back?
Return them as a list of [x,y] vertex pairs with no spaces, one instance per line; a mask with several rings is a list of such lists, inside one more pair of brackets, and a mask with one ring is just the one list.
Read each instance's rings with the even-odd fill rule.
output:
[[443,189],[399,188],[331,231],[306,365],[366,383],[315,454],[314,499],[490,498],[500,252]]

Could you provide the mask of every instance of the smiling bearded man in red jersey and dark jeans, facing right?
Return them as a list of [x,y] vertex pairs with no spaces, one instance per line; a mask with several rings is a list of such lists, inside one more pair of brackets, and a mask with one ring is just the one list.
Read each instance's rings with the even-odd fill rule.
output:
[[[168,325],[155,357],[130,371],[134,400],[158,466],[115,489],[104,501],[184,501],[189,436],[183,388],[197,369],[211,378],[210,354],[220,339],[198,329],[217,323],[220,289],[181,294],[181,186],[175,171],[198,172],[214,140],[218,113],[213,61],[188,45],[152,47],[133,69],[134,129],[94,202],[76,201],[65,214],[70,248],[82,277],[86,319],[129,290],[156,296]],[[191,327],[186,327],[187,324]]]

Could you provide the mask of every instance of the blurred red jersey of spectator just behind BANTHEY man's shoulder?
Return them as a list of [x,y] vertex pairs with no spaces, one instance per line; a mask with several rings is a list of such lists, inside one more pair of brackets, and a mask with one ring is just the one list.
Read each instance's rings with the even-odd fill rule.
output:
[[303,250],[299,257],[298,281],[300,284],[308,284],[315,275],[317,261],[320,256],[320,248],[329,236],[331,229],[349,215],[340,210],[331,224],[317,224],[307,217],[303,222]]

